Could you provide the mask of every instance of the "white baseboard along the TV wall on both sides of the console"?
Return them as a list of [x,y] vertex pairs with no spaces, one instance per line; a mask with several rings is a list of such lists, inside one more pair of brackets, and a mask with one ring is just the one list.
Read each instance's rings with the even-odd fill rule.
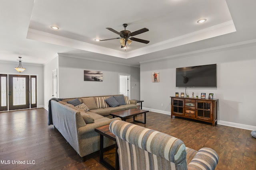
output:
[[[151,109],[151,108],[146,108],[146,107],[142,107],[142,109],[157,112],[157,113],[163,113],[163,114],[166,114],[166,115],[171,115],[170,111],[163,111],[163,110]],[[250,131],[255,131],[256,130],[256,126],[243,125],[243,124],[232,123],[232,122],[228,122],[228,121],[217,120],[217,124],[218,125],[224,125],[224,126],[230,126],[230,127],[236,127],[236,128],[240,128],[240,129],[246,129],[246,130],[250,130]]]

